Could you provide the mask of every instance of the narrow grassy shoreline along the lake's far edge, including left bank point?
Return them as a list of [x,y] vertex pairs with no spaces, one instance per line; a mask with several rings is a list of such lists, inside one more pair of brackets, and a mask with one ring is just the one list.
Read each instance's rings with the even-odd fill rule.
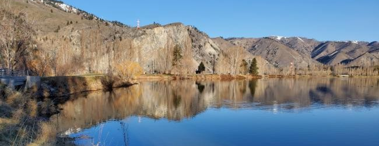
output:
[[121,83],[115,81],[113,86],[104,85],[102,82],[103,75],[78,75],[78,76],[59,76],[59,77],[41,77],[40,86],[26,90],[27,95],[40,97],[64,97],[76,93],[110,90],[111,88],[127,88],[128,86],[138,84],[141,80],[252,80],[260,78],[366,78],[379,76],[350,76],[338,77],[333,75],[219,75],[219,74],[188,74],[188,75],[168,75],[168,74],[143,74],[133,77],[129,82]]

